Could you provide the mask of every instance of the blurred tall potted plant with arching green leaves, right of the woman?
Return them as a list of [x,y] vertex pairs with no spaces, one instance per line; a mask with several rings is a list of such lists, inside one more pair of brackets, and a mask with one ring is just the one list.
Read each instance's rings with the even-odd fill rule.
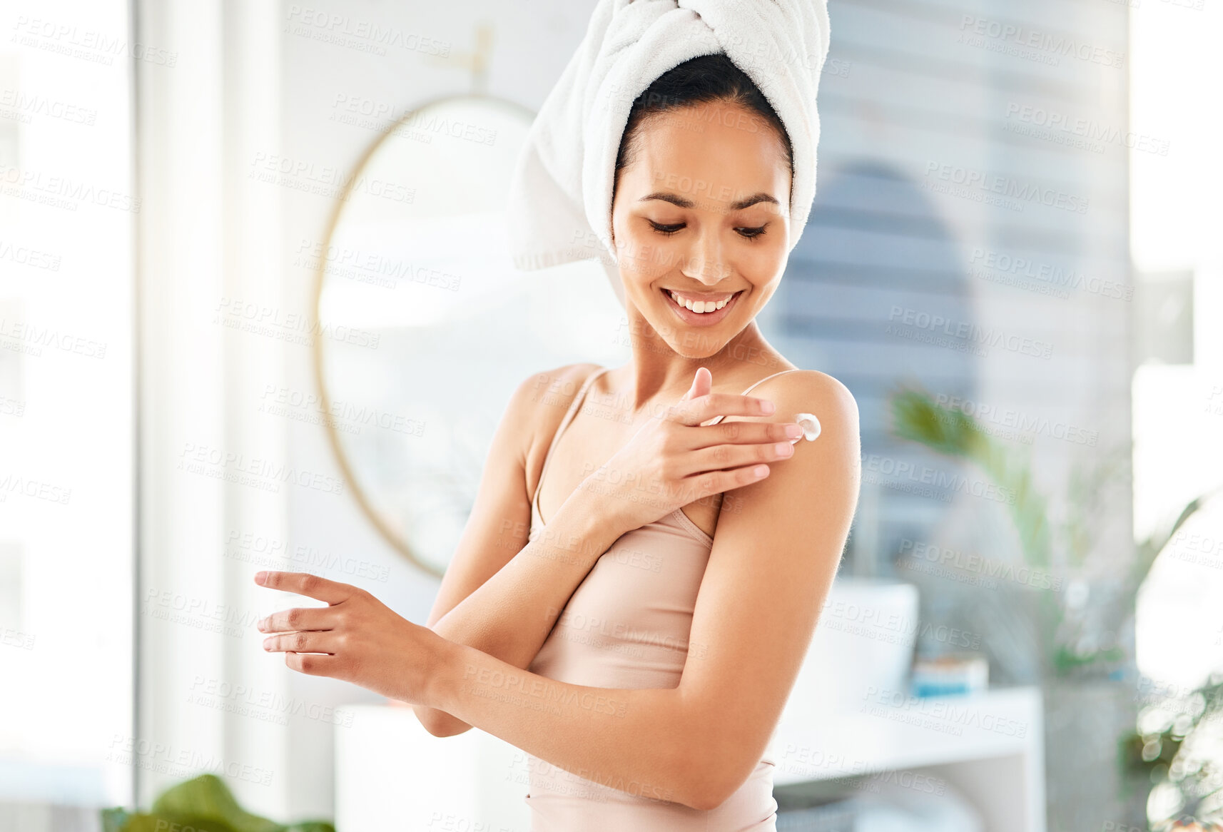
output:
[[[1066,589],[1060,592],[1027,596],[1027,601],[1036,604],[1032,624],[1043,677],[1049,830],[1087,828],[1098,825],[1099,817],[1118,821],[1130,817],[1132,823],[1145,822],[1150,784],[1155,782],[1157,789],[1161,783],[1172,787],[1185,783],[1189,777],[1184,772],[1191,765],[1170,763],[1180,759],[1177,756],[1181,748],[1179,738],[1188,729],[1183,722],[1177,722],[1162,726],[1162,732],[1156,732],[1155,737],[1150,732],[1130,734],[1137,721],[1132,684],[1137,673],[1132,656],[1119,639],[1101,639],[1092,628],[1098,630],[1101,619],[1112,622],[1114,631],[1132,626],[1139,590],[1159,552],[1216,492],[1191,500],[1175,519],[1135,543],[1125,553],[1129,557],[1110,562],[1107,580],[1097,573],[1093,585],[1085,569],[1098,536],[1092,522],[1107,516],[1102,497],[1104,486],[1123,481],[1118,475],[1124,475],[1129,447],[1113,454],[1097,453],[1093,465],[1070,469],[1059,505],[1065,509],[1065,519],[1054,524],[1048,499],[1033,485],[1030,455],[1022,449],[999,443],[972,416],[940,406],[920,389],[893,393],[890,407],[893,433],[898,438],[972,464],[997,486],[1013,493],[1009,514],[1025,562],[1033,569],[1060,571],[1066,579]],[[1114,563],[1121,566],[1120,574]],[[1088,612],[1095,614],[1095,624]],[[1107,762],[1114,756],[1119,738],[1124,762],[1109,772]],[[1155,757],[1144,757],[1157,746],[1161,751]],[[1164,768],[1157,767],[1161,755],[1170,755]],[[1142,770],[1142,765],[1147,765],[1147,770]],[[1097,774],[1084,778],[1080,776],[1082,770]],[[1190,789],[1199,786],[1200,782],[1194,781]],[[1208,803],[1207,795],[1195,793],[1195,798],[1197,803],[1183,801],[1191,811]],[[1210,828],[1170,823],[1173,821],[1168,820],[1159,832]]]

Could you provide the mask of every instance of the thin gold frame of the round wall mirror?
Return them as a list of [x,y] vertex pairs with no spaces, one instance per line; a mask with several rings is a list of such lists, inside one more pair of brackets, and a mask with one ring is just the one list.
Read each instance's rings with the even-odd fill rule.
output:
[[[415,119],[417,114],[421,113],[421,110],[454,100],[495,102],[499,106],[505,106],[509,108],[510,110],[517,110],[519,113],[525,115],[528,121],[533,121],[536,116],[534,111],[531,110],[530,108],[526,108],[521,104],[517,104],[505,98],[498,98],[495,95],[484,95],[482,93],[442,95],[439,98],[434,98],[423,104],[419,104],[415,106],[412,110],[408,110],[407,113],[404,113],[404,115],[396,119],[395,122],[390,127],[388,127],[382,136],[374,139],[374,142],[368,148],[366,148],[366,152],[362,153],[361,158],[357,160],[355,174],[349,180],[349,182],[345,184],[340,196],[335,201],[335,207],[331,210],[331,215],[328,219],[327,236],[323,239],[324,251],[330,248],[331,241],[335,237],[335,230],[340,224],[341,215],[344,214],[344,207],[347,204],[350,187],[353,182],[360,181],[361,171],[364,170],[366,165],[369,163],[369,159],[373,158],[373,155],[379,150],[379,148],[383,147],[386,139],[390,138],[401,125]],[[328,262],[327,257],[319,257],[318,268],[314,270],[313,310],[314,310],[314,323],[317,325],[322,324],[322,310],[319,308],[319,306],[323,299],[323,281],[327,279],[327,262]],[[330,393],[328,392],[327,378],[323,371],[323,361],[324,361],[323,343],[325,340],[327,339],[324,338],[314,339],[314,383],[318,387],[319,404],[323,407],[323,412],[329,414],[331,412],[331,396]],[[361,511],[373,524],[374,529],[378,530],[378,533],[382,536],[382,538],[386,541],[386,543],[389,543],[393,549],[404,555],[407,559],[407,562],[411,563],[417,569],[440,579],[445,574],[445,570],[438,569],[433,564],[418,557],[416,552],[412,551],[412,547],[408,544],[408,542],[401,538],[399,535],[396,535],[395,530],[391,529],[390,525],[386,522],[386,520],[378,513],[378,509],[374,508],[373,503],[369,500],[368,494],[362,488],[361,480],[356,476],[356,474],[352,470],[352,466],[349,464],[349,459],[344,453],[344,447],[340,442],[340,434],[339,431],[336,431],[335,425],[329,418],[324,418],[322,421],[323,421],[323,429],[327,432],[328,444],[331,447],[331,453],[335,455],[335,461],[340,466],[340,472],[349,482],[349,488],[352,493],[352,498],[357,502],[357,505],[361,508]]]

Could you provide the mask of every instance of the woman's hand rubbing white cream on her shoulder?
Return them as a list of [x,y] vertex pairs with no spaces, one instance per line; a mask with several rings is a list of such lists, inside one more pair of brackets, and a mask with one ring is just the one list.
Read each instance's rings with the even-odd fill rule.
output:
[[773,403],[739,393],[711,393],[713,376],[696,371],[692,387],[649,418],[587,476],[578,493],[597,496],[599,514],[625,533],[689,503],[758,482],[769,462],[794,454],[796,422],[702,425],[717,416],[769,416]]

